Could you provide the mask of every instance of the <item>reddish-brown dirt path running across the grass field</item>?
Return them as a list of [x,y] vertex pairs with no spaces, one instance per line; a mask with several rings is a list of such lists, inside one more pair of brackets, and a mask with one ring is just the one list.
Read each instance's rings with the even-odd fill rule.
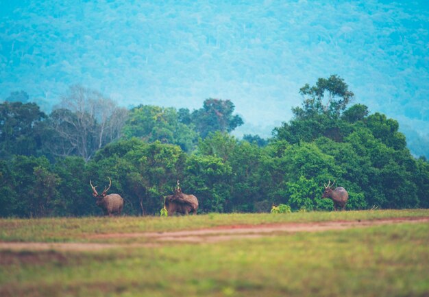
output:
[[429,217],[406,217],[377,219],[369,221],[337,221],[313,223],[288,223],[264,225],[234,225],[204,228],[199,230],[180,230],[174,232],[152,233],[110,233],[88,235],[87,239],[132,239],[145,238],[149,243],[44,243],[44,242],[0,242],[0,250],[103,250],[106,248],[150,248],[162,246],[166,242],[216,243],[232,239],[250,239],[265,236],[279,236],[284,233],[320,232],[364,228],[385,224],[428,223]]

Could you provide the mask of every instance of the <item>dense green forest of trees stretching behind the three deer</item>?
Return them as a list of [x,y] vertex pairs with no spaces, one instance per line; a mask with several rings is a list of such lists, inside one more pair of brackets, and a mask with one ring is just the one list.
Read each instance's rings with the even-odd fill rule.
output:
[[160,215],[177,180],[199,213],[330,211],[336,180],[347,210],[429,207],[429,163],[410,154],[399,124],[367,106],[337,75],[299,89],[302,105],[270,139],[243,124],[228,99],[199,109],[122,108],[70,86],[49,115],[25,91],[0,104],[0,217],[101,215],[90,180],[125,200],[125,215]]

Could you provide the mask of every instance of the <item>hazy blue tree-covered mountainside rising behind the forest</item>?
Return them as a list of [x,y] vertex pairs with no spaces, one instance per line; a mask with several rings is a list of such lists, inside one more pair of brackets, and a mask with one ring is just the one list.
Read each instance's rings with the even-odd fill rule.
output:
[[338,74],[429,156],[428,31],[424,0],[0,0],[0,98],[49,109],[71,84],[124,106],[217,97],[245,120],[236,134],[269,136],[301,86]]

